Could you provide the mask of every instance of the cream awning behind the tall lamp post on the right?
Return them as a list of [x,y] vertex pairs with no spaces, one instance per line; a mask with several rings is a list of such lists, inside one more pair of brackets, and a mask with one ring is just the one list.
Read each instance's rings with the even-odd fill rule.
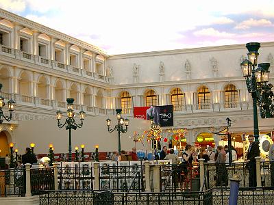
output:
[[[270,132],[274,128],[274,118],[258,119],[259,131]],[[253,120],[238,120],[229,127],[229,133],[253,133]]]

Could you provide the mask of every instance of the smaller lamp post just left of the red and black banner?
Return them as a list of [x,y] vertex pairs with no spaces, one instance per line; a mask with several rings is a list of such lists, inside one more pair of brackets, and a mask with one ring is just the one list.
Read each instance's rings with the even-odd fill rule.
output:
[[[107,119],[107,126],[108,126],[108,132],[112,133],[113,131],[118,132],[118,151],[119,154],[121,154],[121,139],[120,139],[120,134],[121,133],[126,133],[127,132],[127,126],[129,125],[129,120],[126,118],[121,118],[121,112],[122,109],[116,109],[116,117],[118,124],[115,125],[115,127],[112,129],[110,128],[110,119]],[[125,128],[123,128],[123,125],[125,124]]]

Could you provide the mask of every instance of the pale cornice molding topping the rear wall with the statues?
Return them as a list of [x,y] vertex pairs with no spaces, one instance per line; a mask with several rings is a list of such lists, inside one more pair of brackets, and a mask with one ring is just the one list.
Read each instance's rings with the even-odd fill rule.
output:
[[[261,43],[261,47],[270,47],[270,46],[274,46],[274,42]],[[151,57],[151,56],[160,56],[160,55],[179,55],[179,54],[188,54],[188,53],[239,50],[239,49],[245,49],[245,44],[208,46],[208,47],[199,47],[199,48],[192,48],[192,49],[175,49],[175,50],[166,50],[166,51],[151,51],[151,52],[143,52],[143,53],[125,53],[125,54],[118,54],[118,55],[110,55],[108,60],[135,58],[135,57]]]

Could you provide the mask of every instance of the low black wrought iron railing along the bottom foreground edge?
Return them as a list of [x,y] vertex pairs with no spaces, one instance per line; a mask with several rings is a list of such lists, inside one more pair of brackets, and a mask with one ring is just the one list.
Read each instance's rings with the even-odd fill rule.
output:
[[174,193],[112,193],[111,191],[44,191],[40,193],[40,205],[46,204],[132,204],[212,205],[212,189],[204,192]]

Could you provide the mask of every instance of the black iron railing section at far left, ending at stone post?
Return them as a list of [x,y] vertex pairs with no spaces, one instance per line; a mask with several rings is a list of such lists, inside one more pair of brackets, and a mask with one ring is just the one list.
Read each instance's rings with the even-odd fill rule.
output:
[[0,197],[25,196],[25,169],[0,169]]

